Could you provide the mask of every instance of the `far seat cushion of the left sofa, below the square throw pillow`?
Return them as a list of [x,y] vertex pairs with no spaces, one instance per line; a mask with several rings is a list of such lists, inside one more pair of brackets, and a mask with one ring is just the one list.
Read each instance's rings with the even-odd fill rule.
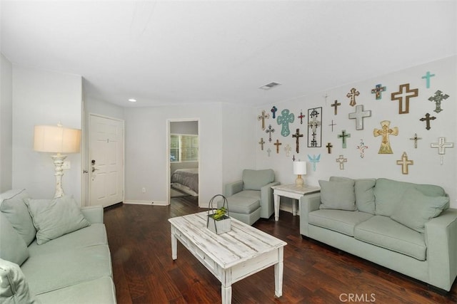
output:
[[33,241],[29,245],[31,257],[54,252],[74,250],[74,248],[107,244],[106,229],[104,224],[91,224],[83,229],[59,236],[57,239],[39,245]]

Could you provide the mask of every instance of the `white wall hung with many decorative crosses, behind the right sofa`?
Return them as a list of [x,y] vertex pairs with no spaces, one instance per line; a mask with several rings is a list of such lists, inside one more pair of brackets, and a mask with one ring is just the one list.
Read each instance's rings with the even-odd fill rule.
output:
[[[421,79],[427,71],[435,74],[431,78],[430,88],[426,88],[426,80]],[[348,71],[351,73],[351,71]],[[381,83],[386,86],[386,92],[382,93],[382,99],[376,100],[374,94],[371,94],[371,89],[375,85]],[[398,114],[398,102],[391,100],[391,93],[397,92],[399,85],[410,83],[411,88],[418,88],[418,97],[411,98],[410,110],[408,114]],[[371,110],[371,117],[364,119],[364,129],[356,130],[355,121],[348,119],[348,113],[354,112],[355,107],[349,105],[349,99],[346,94],[356,88],[360,95],[356,98],[357,105],[364,105],[364,110]],[[276,171],[276,176],[283,184],[291,184],[296,178],[292,172],[292,159],[295,154],[297,159],[308,161],[308,154],[321,154],[321,160],[316,166],[316,172],[313,171],[311,163],[308,162],[308,174],[306,180],[308,184],[317,185],[319,179],[328,179],[331,176],[345,176],[353,178],[361,177],[386,177],[405,182],[416,182],[422,184],[438,184],[443,187],[451,196],[451,206],[457,207],[456,202],[456,172],[457,172],[457,125],[456,125],[456,56],[451,58],[443,58],[438,61],[418,65],[406,70],[401,70],[388,75],[381,75],[370,80],[363,80],[358,83],[343,85],[338,88],[329,88],[328,90],[307,95],[300,98],[294,98],[283,103],[275,104],[278,108],[277,115],[283,109],[289,109],[295,115],[295,121],[290,125],[291,135],[296,128],[300,128],[301,134],[304,136],[300,140],[300,153],[295,152],[295,139],[289,135],[288,137],[281,136],[281,127],[277,120],[271,118],[266,121],[266,125],[271,124],[276,131],[273,133],[273,141],[268,142],[265,131],[261,130],[260,122],[256,125],[256,141],[263,137],[267,142],[265,150],[261,151],[260,145],[256,147],[257,167],[273,167]],[[436,90],[441,90],[450,97],[443,100],[441,108],[442,112],[436,113],[435,103],[428,100],[433,96]],[[324,98],[324,96],[328,96]],[[334,115],[331,104],[334,100],[338,100],[341,106],[338,107],[338,115]],[[273,105],[267,105],[256,110],[256,115],[259,115],[261,110],[270,111]],[[307,147],[307,127],[308,109],[322,107],[322,147]],[[306,114],[303,120],[303,125],[300,125],[297,118],[300,110]],[[436,117],[436,120],[431,121],[431,130],[426,130],[425,122],[419,119],[426,112]],[[254,119],[253,117],[251,119]],[[336,125],[331,130],[331,120]],[[391,127],[398,127],[398,136],[391,136],[391,147],[393,154],[378,154],[381,144],[381,137],[373,136],[373,129],[381,127],[382,120],[390,120]],[[341,130],[346,130],[351,134],[348,139],[347,148],[343,149],[341,140],[337,138],[341,134]],[[418,141],[418,148],[415,149],[413,141],[409,140],[417,133],[422,140]],[[438,137],[446,137],[447,142],[454,142],[453,149],[447,149],[444,155],[444,164],[440,164],[440,157],[437,149],[430,147],[432,142],[438,142]],[[276,154],[276,147],[273,142],[278,139],[282,142],[279,154]],[[360,140],[363,140],[368,146],[365,157],[361,158],[358,150]],[[328,154],[326,145],[331,142],[333,149],[331,154]],[[291,145],[291,156],[286,157],[283,147],[286,144]],[[270,149],[271,157],[268,157],[266,149]],[[396,164],[396,161],[401,159],[403,152],[408,154],[408,159],[412,159],[414,164],[409,166],[409,174],[401,173],[401,166]],[[336,158],[343,154],[347,158],[347,163],[344,164],[344,169],[338,167]]]

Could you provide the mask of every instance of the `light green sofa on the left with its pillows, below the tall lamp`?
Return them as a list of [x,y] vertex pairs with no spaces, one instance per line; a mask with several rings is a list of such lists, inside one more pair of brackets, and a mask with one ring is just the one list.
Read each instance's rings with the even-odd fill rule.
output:
[[[0,211],[0,303],[116,303],[101,206],[11,190],[1,194]],[[64,221],[70,216],[76,221]]]

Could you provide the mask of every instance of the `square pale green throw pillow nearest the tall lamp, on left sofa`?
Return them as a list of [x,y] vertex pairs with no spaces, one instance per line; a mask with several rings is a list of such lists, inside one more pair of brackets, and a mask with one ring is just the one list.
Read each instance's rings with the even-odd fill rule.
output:
[[26,199],[39,245],[89,226],[73,196],[58,199]]

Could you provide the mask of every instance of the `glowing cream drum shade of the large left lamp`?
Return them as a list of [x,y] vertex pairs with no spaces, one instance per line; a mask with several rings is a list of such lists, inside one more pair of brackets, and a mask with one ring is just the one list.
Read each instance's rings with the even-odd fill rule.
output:
[[77,153],[81,145],[81,130],[54,125],[36,125],[34,150],[38,152]]

